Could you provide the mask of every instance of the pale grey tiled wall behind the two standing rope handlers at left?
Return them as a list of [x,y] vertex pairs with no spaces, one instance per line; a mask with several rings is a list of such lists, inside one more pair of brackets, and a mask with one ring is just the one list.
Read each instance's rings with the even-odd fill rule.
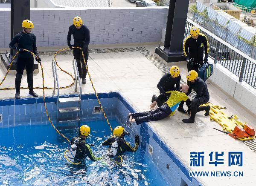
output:
[[[66,46],[73,17],[79,15],[90,29],[90,44],[146,43],[161,40],[168,8],[32,8],[32,33],[38,46]],[[10,43],[10,10],[0,9],[0,48]],[[7,22],[7,23],[6,23]]]

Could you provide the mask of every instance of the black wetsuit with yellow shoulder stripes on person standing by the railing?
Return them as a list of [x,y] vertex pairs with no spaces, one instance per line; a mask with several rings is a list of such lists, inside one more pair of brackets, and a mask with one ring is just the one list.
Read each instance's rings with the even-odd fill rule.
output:
[[208,52],[209,43],[204,34],[199,34],[197,39],[193,39],[191,35],[186,37],[183,43],[184,56],[187,60],[194,58],[193,64],[187,64],[188,71],[195,70],[198,72],[198,68],[200,67],[198,64],[203,65],[204,54],[206,58],[208,57]]

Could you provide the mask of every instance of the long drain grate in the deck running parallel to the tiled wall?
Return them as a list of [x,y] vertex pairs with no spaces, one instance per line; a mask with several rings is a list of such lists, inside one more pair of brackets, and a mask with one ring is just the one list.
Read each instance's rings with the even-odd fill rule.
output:
[[[116,52],[141,52],[148,51],[145,47],[127,47],[127,48],[113,48],[113,49],[88,49],[89,54],[97,53],[116,53]],[[40,51],[39,55],[54,55],[56,51]],[[58,55],[70,55],[73,54],[73,50],[64,50],[58,53]]]

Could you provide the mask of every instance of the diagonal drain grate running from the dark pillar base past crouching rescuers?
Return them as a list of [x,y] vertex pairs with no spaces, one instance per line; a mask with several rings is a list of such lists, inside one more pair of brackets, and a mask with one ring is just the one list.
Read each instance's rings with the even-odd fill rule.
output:
[[[151,61],[151,63],[153,63],[158,69],[160,69],[160,71],[162,71],[163,73],[168,73],[170,72],[170,69],[168,66],[166,66],[162,61],[160,61],[157,57],[154,56],[154,54],[152,54],[149,51],[141,51],[141,54],[143,54],[143,56],[145,56],[149,61]],[[183,79],[180,80],[180,85],[183,84],[187,84],[186,81],[184,81]],[[193,90],[191,92],[191,94],[189,94],[190,97],[194,98],[196,96],[196,92]]]

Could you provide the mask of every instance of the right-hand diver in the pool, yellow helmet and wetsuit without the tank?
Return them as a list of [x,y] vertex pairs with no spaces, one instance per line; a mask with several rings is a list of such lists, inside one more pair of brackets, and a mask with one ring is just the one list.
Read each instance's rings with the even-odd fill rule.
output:
[[122,153],[128,152],[136,152],[138,146],[140,144],[139,135],[135,135],[135,145],[132,147],[130,143],[126,142],[124,136],[127,135],[127,132],[122,126],[117,126],[113,130],[113,136],[102,142],[103,146],[109,145],[109,149],[111,149],[111,145],[116,141],[118,144],[116,156],[122,155]]

